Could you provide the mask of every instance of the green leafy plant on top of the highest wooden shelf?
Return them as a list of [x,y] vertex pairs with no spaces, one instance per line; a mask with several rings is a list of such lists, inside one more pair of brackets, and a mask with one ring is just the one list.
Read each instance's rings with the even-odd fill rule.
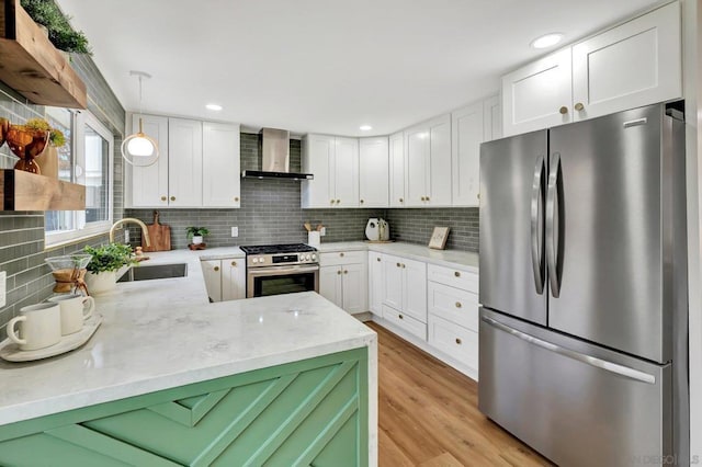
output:
[[70,26],[70,18],[61,13],[54,0],[21,0],[20,3],[34,22],[48,30],[48,39],[56,48],[91,55],[86,35]]

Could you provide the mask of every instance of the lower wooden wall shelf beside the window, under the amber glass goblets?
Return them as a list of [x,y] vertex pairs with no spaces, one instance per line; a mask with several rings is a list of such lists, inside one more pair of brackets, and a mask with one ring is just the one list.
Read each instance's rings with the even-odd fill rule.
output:
[[21,170],[0,170],[0,210],[83,210],[86,187]]

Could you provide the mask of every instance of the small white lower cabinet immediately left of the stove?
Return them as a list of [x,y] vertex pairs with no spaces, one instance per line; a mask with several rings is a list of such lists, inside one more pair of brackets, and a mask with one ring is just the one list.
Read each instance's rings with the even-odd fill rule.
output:
[[246,260],[228,258],[200,262],[211,301],[246,298]]

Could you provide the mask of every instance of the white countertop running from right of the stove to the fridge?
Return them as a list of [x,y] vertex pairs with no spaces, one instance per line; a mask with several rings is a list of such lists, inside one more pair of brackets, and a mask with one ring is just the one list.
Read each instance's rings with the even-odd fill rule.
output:
[[467,271],[478,272],[478,253],[460,250],[432,250],[429,247],[405,242],[370,243],[365,241],[343,241],[321,243],[317,247],[321,253],[337,251],[369,250],[386,254],[396,254],[410,260],[424,261],[449,267],[460,266]]

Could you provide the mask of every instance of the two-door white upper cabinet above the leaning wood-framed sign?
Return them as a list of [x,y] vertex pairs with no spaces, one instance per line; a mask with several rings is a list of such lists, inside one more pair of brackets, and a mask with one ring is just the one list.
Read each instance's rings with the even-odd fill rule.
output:
[[451,115],[405,130],[405,206],[451,206]]

